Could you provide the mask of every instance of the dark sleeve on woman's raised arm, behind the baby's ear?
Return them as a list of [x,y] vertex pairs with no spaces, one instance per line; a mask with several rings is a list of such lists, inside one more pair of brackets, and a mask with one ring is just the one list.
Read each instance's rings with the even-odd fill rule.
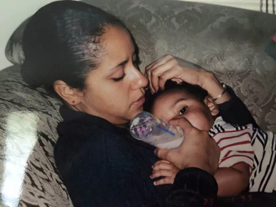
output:
[[244,126],[252,124],[254,128],[259,128],[252,114],[246,108],[244,103],[237,97],[231,87],[227,87],[227,91],[231,95],[231,99],[222,104],[218,104],[219,116],[229,124],[237,124]]

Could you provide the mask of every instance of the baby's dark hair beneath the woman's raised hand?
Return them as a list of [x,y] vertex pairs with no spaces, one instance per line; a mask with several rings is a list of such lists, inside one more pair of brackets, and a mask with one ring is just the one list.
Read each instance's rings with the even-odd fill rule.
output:
[[185,93],[191,95],[200,102],[208,96],[208,92],[199,85],[192,85],[187,82],[177,83],[175,81],[168,80],[165,83],[163,90],[158,90],[155,94],[151,94],[150,90],[146,91],[146,102],[144,104],[144,110],[152,112],[155,100],[163,94],[170,93],[172,91],[185,91]]

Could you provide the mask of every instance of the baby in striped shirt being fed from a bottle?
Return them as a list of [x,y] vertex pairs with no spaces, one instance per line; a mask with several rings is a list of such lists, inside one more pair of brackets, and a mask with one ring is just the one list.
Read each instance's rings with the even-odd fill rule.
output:
[[[249,190],[272,192],[276,189],[276,136],[261,129],[231,125],[219,116],[218,106],[198,85],[167,81],[164,90],[149,100],[148,111],[169,122],[184,117],[194,127],[209,131],[221,148],[219,168],[214,175],[218,196],[235,196]],[[173,183],[179,170],[160,160],[153,166],[151,178],[163,176],[155,185]]]

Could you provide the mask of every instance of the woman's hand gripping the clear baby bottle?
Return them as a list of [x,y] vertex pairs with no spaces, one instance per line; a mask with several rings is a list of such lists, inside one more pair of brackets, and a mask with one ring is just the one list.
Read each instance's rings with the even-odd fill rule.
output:
[[197,167],[214,175],[218,169],[221,150],[207,131],[200,131],[185,118],[177,118],[170,124],[179,126],[184,132],[182,144],[175,149],[157,149],[156,155],[174,164],[179,169]]

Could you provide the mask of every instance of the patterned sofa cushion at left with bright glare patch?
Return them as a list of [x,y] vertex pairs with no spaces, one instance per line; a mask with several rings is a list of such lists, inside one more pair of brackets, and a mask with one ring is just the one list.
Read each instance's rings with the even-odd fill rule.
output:
[[20,66],[0,72],[0,94],[0,206],[72,206],[53,159],[61,101],[30,89]]

